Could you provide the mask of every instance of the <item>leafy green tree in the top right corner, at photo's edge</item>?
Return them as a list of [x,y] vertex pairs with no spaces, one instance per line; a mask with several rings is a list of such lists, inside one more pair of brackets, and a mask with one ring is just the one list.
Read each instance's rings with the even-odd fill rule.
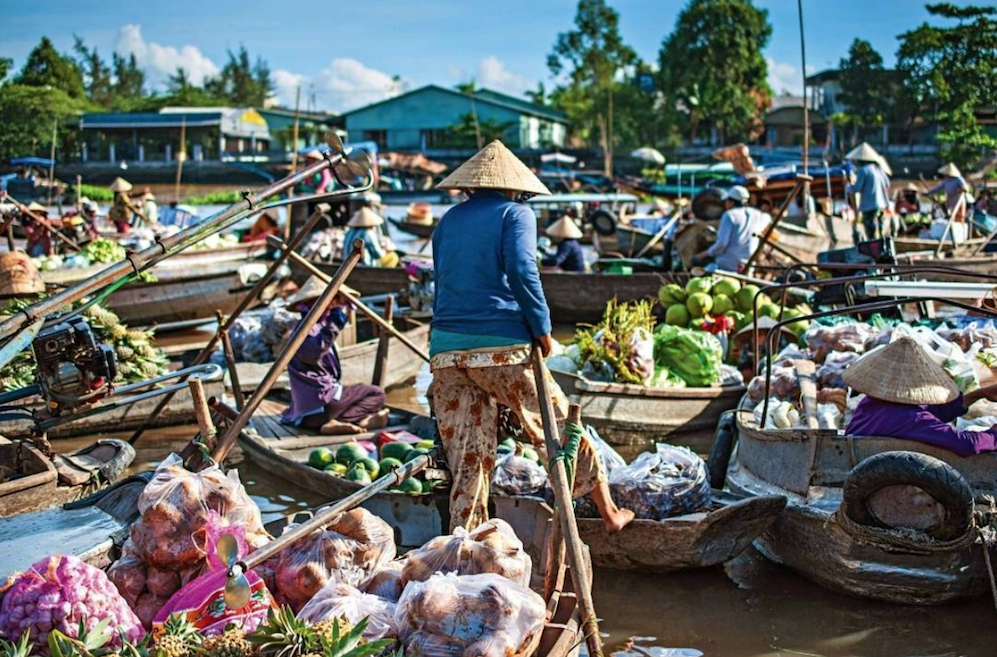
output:
[[929,4],[928,13],[955,25],[923,23],[900,35],[897,69],[904,114],[938,124],[943,155],[969,164],[997,146],[975,110],[997,106],[997,8]]

